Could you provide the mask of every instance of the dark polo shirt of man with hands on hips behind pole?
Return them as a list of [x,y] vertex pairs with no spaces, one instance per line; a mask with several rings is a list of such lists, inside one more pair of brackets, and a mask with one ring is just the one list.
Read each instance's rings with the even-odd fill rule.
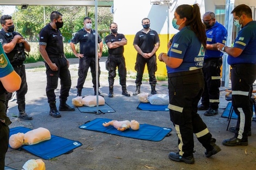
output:
[[[80,29],[71,40],[72,43],[80,43],[80,54],[83,56],[95,57],[95,30],[91,30],[88,33],[84,28]],[[98,43],[100,43],[101,37],[98,34]]]

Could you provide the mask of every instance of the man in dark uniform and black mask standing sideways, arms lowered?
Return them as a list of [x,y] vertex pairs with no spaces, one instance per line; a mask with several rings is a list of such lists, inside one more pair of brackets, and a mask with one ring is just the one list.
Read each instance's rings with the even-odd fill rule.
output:
[[60,78],[60,104],[59,111],[75,111],[66,104],[71,87],[71,77],[69,72],[69,61],[64,55],[63,36],[60,28],[63,26],[62,14],[58,11],[51,12],[51,22],[47,24],[39,34],[39,51],[45,60],[47,85],[46,96],[50,105],[49,115],[61,117],[56,108],[56,95],[54,90],[58,87],[58,78]]

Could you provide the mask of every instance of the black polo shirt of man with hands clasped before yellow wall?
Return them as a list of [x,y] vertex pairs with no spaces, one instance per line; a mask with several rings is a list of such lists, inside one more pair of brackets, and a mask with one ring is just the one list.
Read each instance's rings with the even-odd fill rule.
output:
[[148,34],[142,32],[142,30],[136,33],[133,45],[138,45],[143,53],[151,53],[155,47],[155,44],[160,42],[159,35],[153,29],[150,29]]

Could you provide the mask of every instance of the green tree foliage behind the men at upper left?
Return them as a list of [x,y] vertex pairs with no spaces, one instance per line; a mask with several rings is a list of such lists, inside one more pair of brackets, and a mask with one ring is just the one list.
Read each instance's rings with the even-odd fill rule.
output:
[[[86,7],[46,6],[44,9],[43,6],[29,5],[26,10],[22,10],[16,6],[13,19],[16,24],[17,32],[21,33],[21,35],[28,40],[38,41],[39,32],[45,26],[44,20],[46,21],[46,24],[49,23],[50,14],[54,10],[63,14],[64,26],[61,31],[64,37],[64,42],[68,42],[72,38],[72,33],[76,33],[83,28],[83,18],[87,16],[85,14]],[[93,20],[93,28],[95,28],[94,12],[94,7],[88,7],[89,17]],[[99,7],[97,18],[98,30],[108,30],[109,23],[113,20],[113,15],[110,13],[109,8]]]

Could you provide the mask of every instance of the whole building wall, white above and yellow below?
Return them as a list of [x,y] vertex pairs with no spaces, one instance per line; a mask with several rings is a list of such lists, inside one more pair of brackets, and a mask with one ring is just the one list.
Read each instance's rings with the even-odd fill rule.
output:
[[[155,0],[157,1],[157,0]],[[135,34],[142,29],[142,19],[150,19],[150,28],[156,30],[160,36],[160,48],[156,52],[167,53],[167,43],[178,32],[172,26],[175,9],[181,4],[199,4],[201,15],[205,12],[204,0],[173,0],[168,8],[167,4],[153,5],[150,0],[114,0],[114,22],[118,24],[118,33],[126,36],[125,59],[127,71],[135,71],[137,52],[133,48]],[[147,72],[147,67],[145,68]],[[166,65],[157,61],[156,75],[166,75]]]

